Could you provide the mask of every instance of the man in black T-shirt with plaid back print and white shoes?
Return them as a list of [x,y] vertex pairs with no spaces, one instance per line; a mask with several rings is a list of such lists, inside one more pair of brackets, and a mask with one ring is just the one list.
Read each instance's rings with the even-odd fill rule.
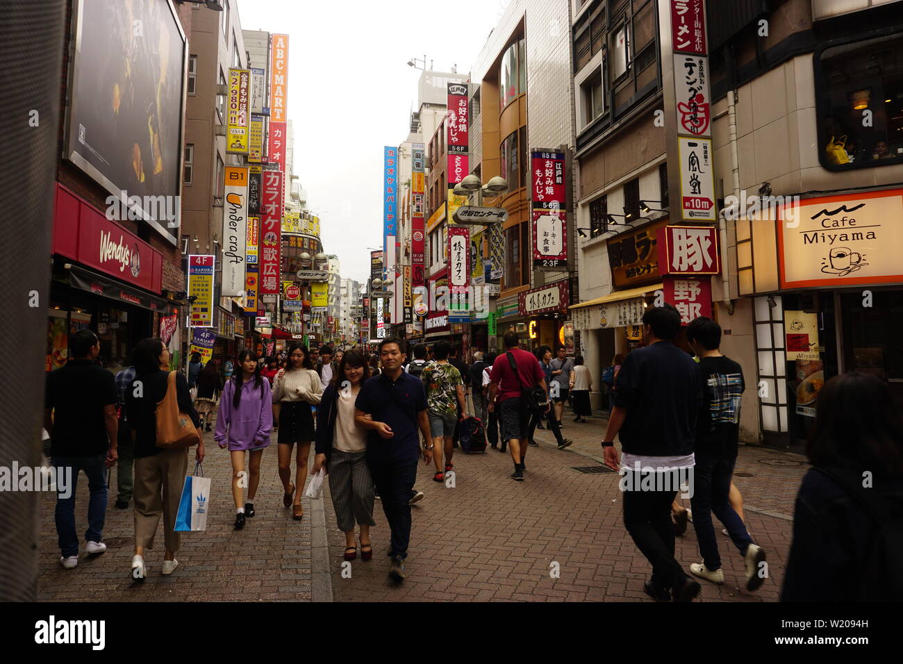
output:
[[697,420],[693,525],[702,563],[694,563],[690,571],[715,584],[724,583],[721,556],[712,512],[724,524],[734,546],[746,564],[746,589],[756,590],[765,580],[765,552],[752,543],[749,532],[737,512],[731,507],[731,476],[737,461],[740,438],[740,401],[743,389],[743,369],[721,355],[721,326],[701,316],[686,328],[686,339],[699,358],[703,380],[703,407]]

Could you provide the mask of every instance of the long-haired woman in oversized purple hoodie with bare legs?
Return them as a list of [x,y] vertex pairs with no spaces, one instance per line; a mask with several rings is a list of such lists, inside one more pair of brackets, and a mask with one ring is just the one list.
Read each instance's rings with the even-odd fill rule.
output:
[[[238,353],[237,371],[226,382],[219,400],[217,429],[213,439],[220,449],[228,445],[232,455],[232,496],[235,498],[235,529],[245,527],[245,519],[254,516],[254,496],[260,482],[260,459],[270,444],[273,432],[273,398],[270,382],[260,375],[260,363],[254,351]],[[247,502],[242,507],[242,480],[245,477],[245,452],[248,462]]]

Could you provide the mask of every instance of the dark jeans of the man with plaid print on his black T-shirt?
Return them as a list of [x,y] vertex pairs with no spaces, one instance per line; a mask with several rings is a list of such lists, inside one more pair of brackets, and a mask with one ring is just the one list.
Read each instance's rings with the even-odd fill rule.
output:
[[693,507],[693,526],[696,530],[699,552],[703,555],[703,563],[710,572],[721,569],[718,541],[715,538],[715,528],[712,526],[712,512],[728,529],[734,546],[740,551],[740,556],[745,555],[746,548],[752,544],[746,526],[728,500],[736,462],[736,459],[718,459],[696,453],[694,493],[690,504]]

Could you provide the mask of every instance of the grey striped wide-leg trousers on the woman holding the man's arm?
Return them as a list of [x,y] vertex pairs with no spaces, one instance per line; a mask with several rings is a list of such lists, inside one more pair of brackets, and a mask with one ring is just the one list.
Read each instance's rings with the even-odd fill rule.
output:
[[356,522],[375,526],[373,478],[367,466],[367,453],[342,452],[333,447],[327,477],[339,529],[342,532],[354,530]]

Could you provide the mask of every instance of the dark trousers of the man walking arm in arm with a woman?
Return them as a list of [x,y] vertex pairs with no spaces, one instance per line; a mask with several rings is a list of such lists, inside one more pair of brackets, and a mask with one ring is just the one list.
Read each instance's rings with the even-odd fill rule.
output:
[[407,556],[411,539],[411,498],[417,477],[417,457],[394,459],[388,454],[368,454],[367,463],[392,531],[389,556]]

